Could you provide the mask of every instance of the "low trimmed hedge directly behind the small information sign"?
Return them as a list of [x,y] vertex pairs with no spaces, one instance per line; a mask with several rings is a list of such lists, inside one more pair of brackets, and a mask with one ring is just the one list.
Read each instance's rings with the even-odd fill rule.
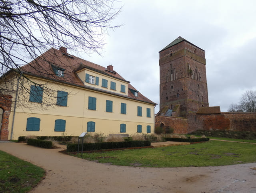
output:
[[[150,141],[124,141],[124,142],[101,142],[101,143],[86,143],[83,146],[83,151],[91,150],[106,150],[119,148],[134,148],[151,146]],[[78,144],[67,144],[67,152],[76,152]],[[79,144],[79,151],[82,150],[82,144]]]

